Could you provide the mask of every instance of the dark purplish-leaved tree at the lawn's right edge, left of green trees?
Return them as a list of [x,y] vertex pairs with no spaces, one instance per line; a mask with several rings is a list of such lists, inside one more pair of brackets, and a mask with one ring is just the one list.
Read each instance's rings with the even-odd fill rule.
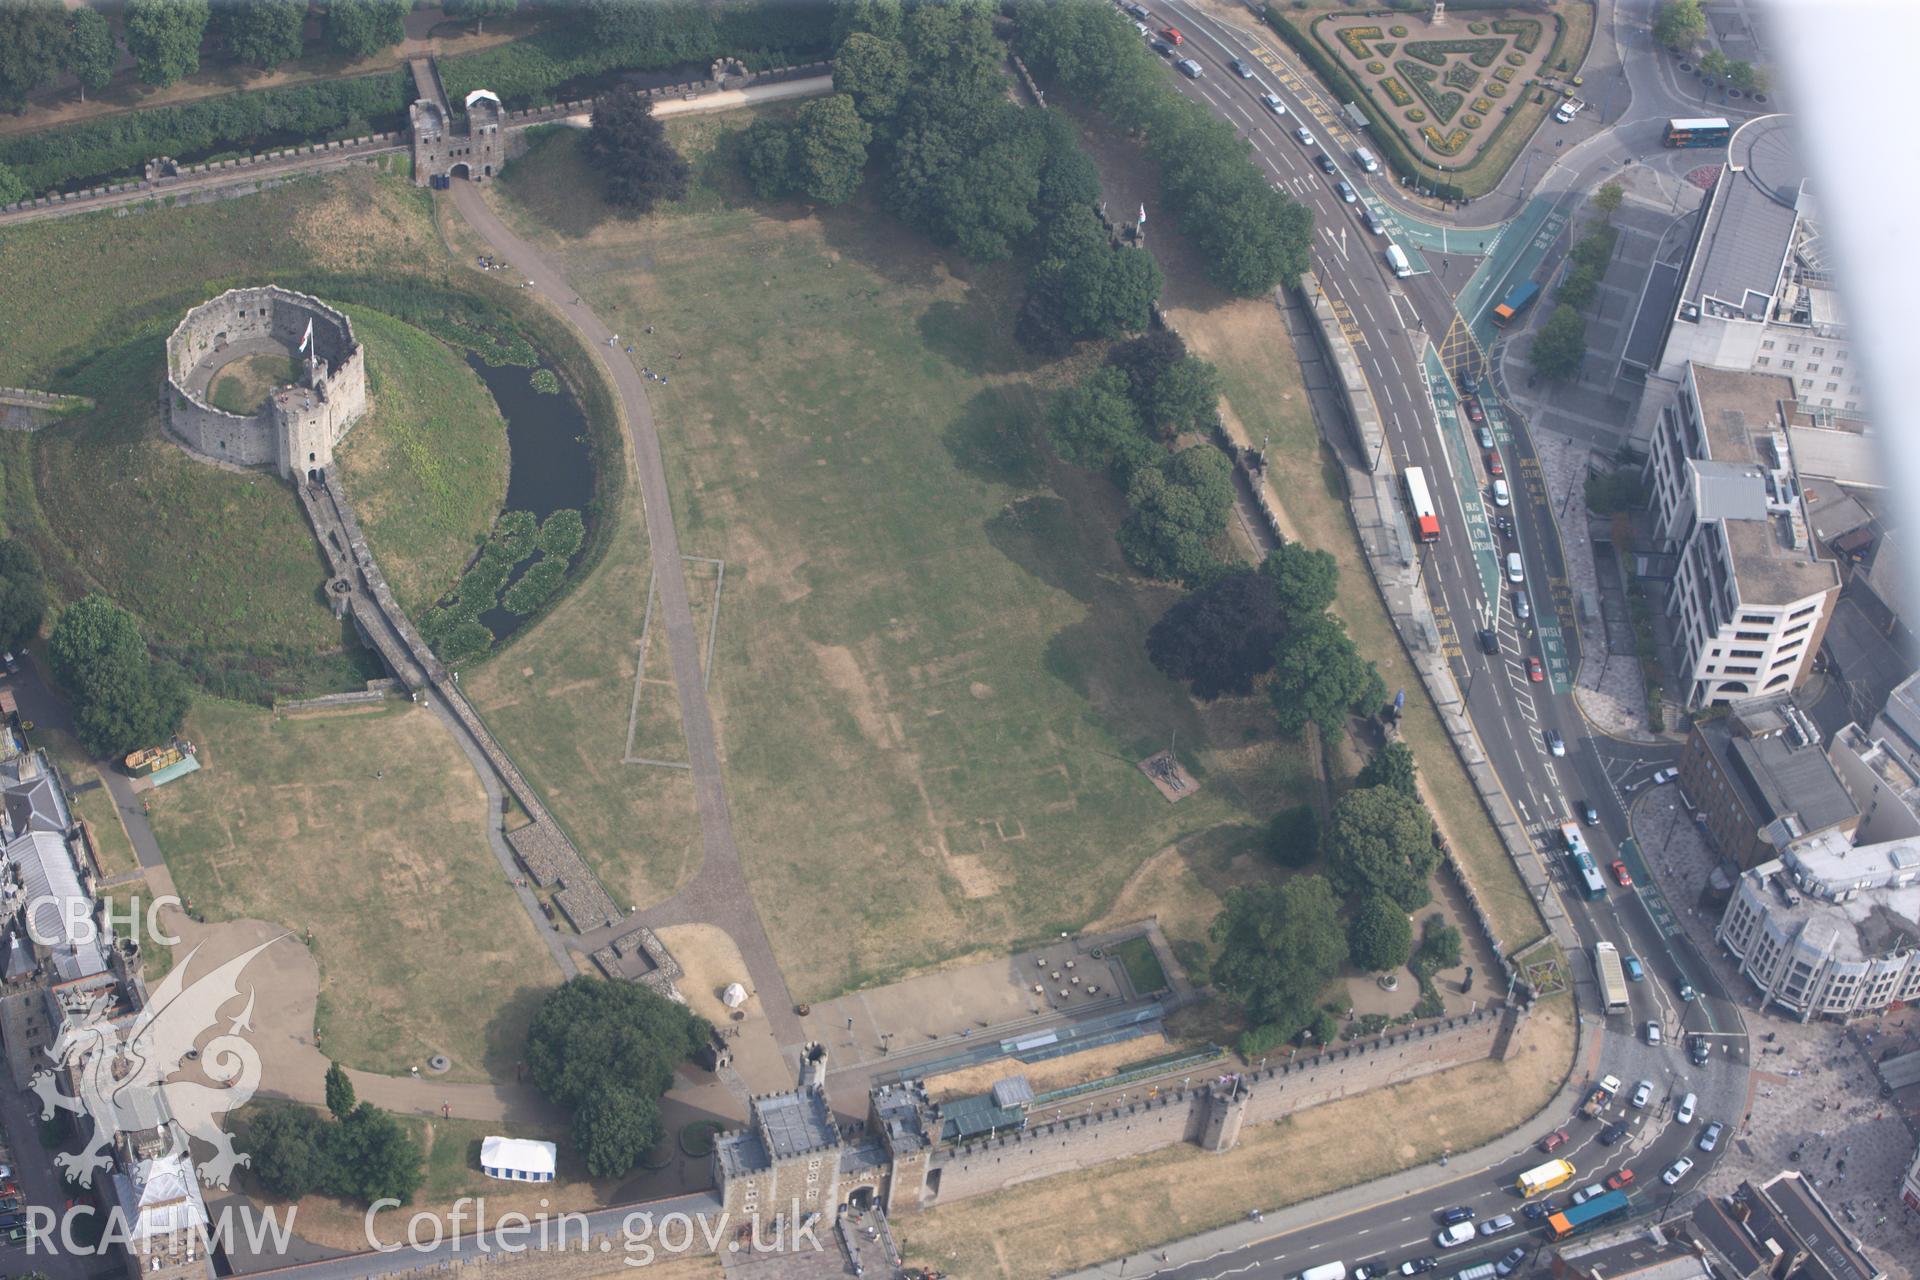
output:
[[1273,581],[1236,570],[1175,601],[1146,633],[1146,656],[1165,676],[1188,681],[1196,699],[1246,695],[1273,670],[1284,626]]

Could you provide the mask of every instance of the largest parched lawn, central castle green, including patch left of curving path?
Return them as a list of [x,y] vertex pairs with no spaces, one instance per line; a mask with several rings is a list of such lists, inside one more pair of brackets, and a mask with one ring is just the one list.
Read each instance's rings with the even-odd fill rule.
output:
[[[705,175],[695,213],[611,219],[588,186],[543,226],[551,205],[516,192],[574,171],[576,134],[545,138],[490,194],[601,315],[659,330],[636,359],[672,368],[653,405],[682,551],[726,560],[710,699],[793,994],[1073,929],[1183,839],[1250,846],[1302,794],[1302,752],[1258,729],[1258,706],[1196,708],[1146,662],[1175,593],[1121,564],[1119,495],[1037,447],[1046,388],[1079,370],[1037,368],[1010,342],[1018,274],[947,257],[864,203],[739,205],[708,155],[747,123],[668,125]],[[603,869],[645,867],[609,881],[662,889],[697,827],[684,771],[618,764],[641,549],[626,535],[595,572],[624,581],[624,626],[589,612],[588,581],[547,645],[516,645],[468,693],[576,835],[614,835]],[[563,633],[591,637],[599,662]],[[1202,787],[1167,804],[1135,762],[1175,733]],[[687,816],[662,821],[659,804]]]

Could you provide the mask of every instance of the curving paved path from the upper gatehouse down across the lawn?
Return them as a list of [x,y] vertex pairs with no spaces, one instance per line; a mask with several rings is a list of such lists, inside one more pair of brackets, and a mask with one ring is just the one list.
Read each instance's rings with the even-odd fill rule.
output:
[[[591,307],[578,301],[578,290],[566,274],[540,249],[516,236],[488,207],[478,186],[453,184],[453,205],[461,217],[515,271],[532,280],[540,294],[561,313],[588,345],[614,357],[614,330]],[[674,509],[666,489],[666,464],[660,457],[660,434],[653,420],[647,388],[632,361],[607,359],[614,390],[620,395],[620,416],[626,420],[639,495],[645,503],[647,541],[653,547],[655,589],[660,618],[666,628],[666,651],[674,670],[674,689],[680,695],[680,723],[687,739],[687,762],[693,770],[693,794],[701,816],[701,869],[693,881],[666,902],[637,913],[645,925],[708,923],[726,929],[739,946],[753,979],[755,996],[766,1009],[774,1038],[795,1046],[804,1038],[801,1019],[793,1013],[787,981],[774,961],[774,946],[760,923],[760,913],[747,892],[739,865],[739,846],[733,842],[733,818],[726,804],[726,783],[720,771],[720,741],[714,733],[712,706],[707,702],[707,681],[701,674],[701,635],[687,604],[687,580],[680,558],[680,533],[674,530]],[[593,935],[588,935],[589,940]]]

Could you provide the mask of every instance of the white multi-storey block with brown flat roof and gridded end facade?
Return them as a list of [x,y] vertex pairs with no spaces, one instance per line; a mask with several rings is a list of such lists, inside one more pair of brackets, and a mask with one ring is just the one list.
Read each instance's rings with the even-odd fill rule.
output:
[[1688,706],[1797,689],[1839,597],[1839,566],[1807,528],[1786,428],[1793,384],[1778,374],[1682,370],[1647,459],[1653,537],[1676,555],[1676,620]]

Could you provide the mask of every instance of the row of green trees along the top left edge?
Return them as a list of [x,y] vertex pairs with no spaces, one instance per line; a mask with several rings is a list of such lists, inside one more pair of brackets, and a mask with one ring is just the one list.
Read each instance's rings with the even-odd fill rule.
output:
[[[447,10],[511,10],[511,0],[449,0]],[[271,71],[305,52],[309,0],[127,0],[121,29],[98,10],[60,0],[0,6],[0,107],[19,111],[27,94],[71,75],[86,90],[113,79],[121,44],[144,84],[167,86],[200,71],[202,58]],[[409,0],[326,0],[321,38],[348,58],[367,58],[407,38]]]

